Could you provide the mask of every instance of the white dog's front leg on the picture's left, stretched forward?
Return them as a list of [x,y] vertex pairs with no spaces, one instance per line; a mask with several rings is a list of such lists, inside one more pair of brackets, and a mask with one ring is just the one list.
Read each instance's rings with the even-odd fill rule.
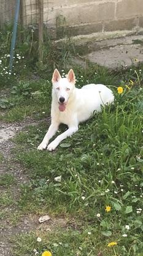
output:
[[44,139],[42,140],[41,144],[37,147],[37,149],[42,151],[47,147],[48,141],[50,140],[50,138],[53,137],[53,135],[55,135],[56,131],[58,130],[58,126],[59,126],[59,123],[52,123],[50,125],[47,133],[45,134]]

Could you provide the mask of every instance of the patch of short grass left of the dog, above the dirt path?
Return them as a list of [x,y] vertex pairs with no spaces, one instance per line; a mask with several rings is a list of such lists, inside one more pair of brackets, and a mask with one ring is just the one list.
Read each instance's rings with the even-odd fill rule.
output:
[[[23,91],[23,85],[25,85],[25,83],[22,83],[20,90],[19,88],[15,91],[13,88],[11,89],[9,102],[12,102],[13,105],[10,107],[9,111],[7,111],[6,104],[2,105],[5,115],[1,114],[0,120],[4,120],[5,122],[15,122],[22,121],[26,117],[33,116],[34,118],[39,119],[45,117],[45,115],[49,115],[49,97],[51,91],[49,81],[31,81],[28,84],[28,89],[30,89],[30,91],[27,89],[26,92]],[[17,88],[17,86],[15,87]]]

